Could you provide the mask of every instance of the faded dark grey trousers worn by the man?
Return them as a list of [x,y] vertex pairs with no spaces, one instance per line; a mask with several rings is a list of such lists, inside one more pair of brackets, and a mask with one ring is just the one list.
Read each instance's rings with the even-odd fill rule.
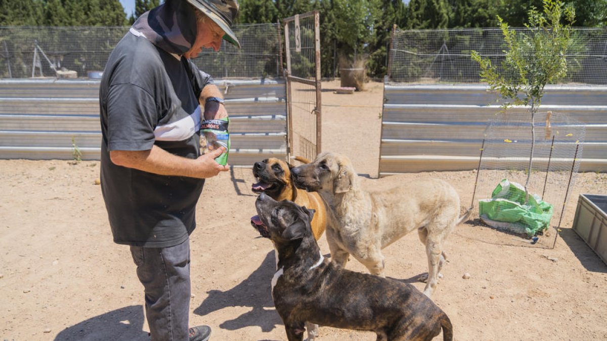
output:
[[188,341],[189,238],[169,248],[131,246],[152,341]]

